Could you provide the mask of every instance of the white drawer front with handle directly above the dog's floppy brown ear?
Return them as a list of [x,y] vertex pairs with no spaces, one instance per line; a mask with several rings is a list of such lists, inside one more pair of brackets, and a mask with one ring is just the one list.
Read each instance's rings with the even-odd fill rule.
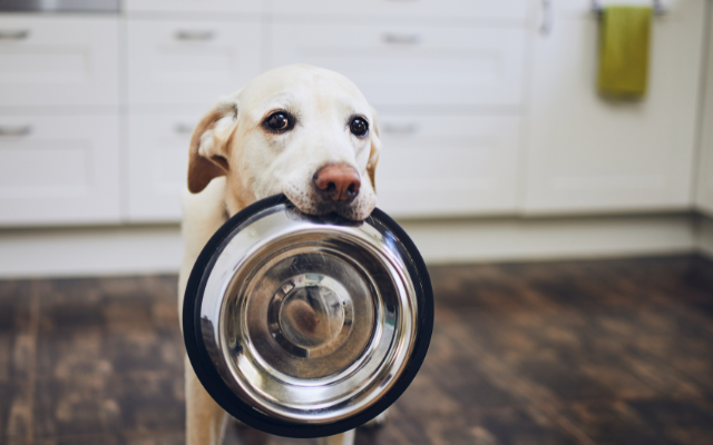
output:
[[206,106],[257,76],[258,23],[128,21],[129,103]]

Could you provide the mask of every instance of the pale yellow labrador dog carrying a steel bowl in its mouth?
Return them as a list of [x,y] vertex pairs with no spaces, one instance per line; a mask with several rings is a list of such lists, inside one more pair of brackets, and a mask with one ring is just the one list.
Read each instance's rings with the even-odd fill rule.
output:
[[[211,236],[250,204],[283,192],[306,214],[365,219],[379,160],[374,110],[345,77],[295,65],[267,71],[221,100],[191,139],[178,307]],[[226,413],[186,358],[186,444],[219,444]],[[321,439],[351,444],[353,432]],[[265,441],[264,437],[261,441]]]

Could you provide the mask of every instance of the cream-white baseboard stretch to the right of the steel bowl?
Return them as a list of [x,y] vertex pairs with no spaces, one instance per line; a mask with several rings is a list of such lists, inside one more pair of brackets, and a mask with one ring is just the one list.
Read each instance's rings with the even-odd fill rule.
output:
[[695,249],[686,215],[407,221],[429,264],[664,255]]

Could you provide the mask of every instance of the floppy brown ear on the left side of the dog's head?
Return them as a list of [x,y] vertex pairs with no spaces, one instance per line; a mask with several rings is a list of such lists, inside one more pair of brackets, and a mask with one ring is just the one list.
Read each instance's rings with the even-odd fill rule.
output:
[[228,128],[237,119],[237,102],[223,100],[201,119],[191,137],[188,155],[188,190],[192,194],[204,188],[229,169],[229,147],[232,139]]

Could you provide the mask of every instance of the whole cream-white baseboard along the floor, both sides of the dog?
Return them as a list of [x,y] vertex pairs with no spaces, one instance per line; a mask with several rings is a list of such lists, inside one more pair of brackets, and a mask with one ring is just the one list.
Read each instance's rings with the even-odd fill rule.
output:
[[[592,258],[690,253],[713,255],[687,215],[401,221],[429,264]],[[177,225],[0,230],[0,277],[175,274]]]

